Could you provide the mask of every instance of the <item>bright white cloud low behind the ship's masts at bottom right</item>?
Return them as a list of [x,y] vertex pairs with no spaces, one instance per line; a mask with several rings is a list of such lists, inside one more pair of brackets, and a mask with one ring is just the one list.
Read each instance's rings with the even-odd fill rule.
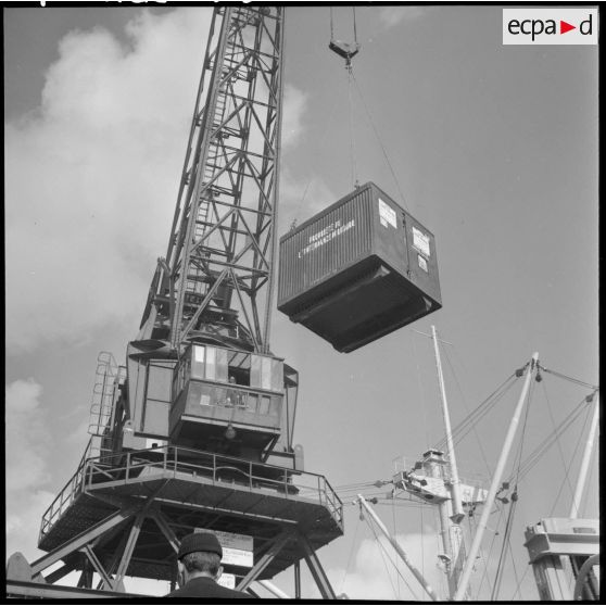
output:
[[[421,571],[432,590],[440,594],[443,573],[437,566],[438,543],[427,540],[431,534],[435,534],[435,531],[427,529],[425,535],[399,534],[396,540],[408,560]],[[379,542],[363,540],[352,569],[332,569],[328,572],[329,578],[333,579],[334,591],[338,594],[345,593],[350,599],[428,599],[429,596],[391,544],[382,536]],[[399,578],[390,560],[397,565],[404,580]]]

